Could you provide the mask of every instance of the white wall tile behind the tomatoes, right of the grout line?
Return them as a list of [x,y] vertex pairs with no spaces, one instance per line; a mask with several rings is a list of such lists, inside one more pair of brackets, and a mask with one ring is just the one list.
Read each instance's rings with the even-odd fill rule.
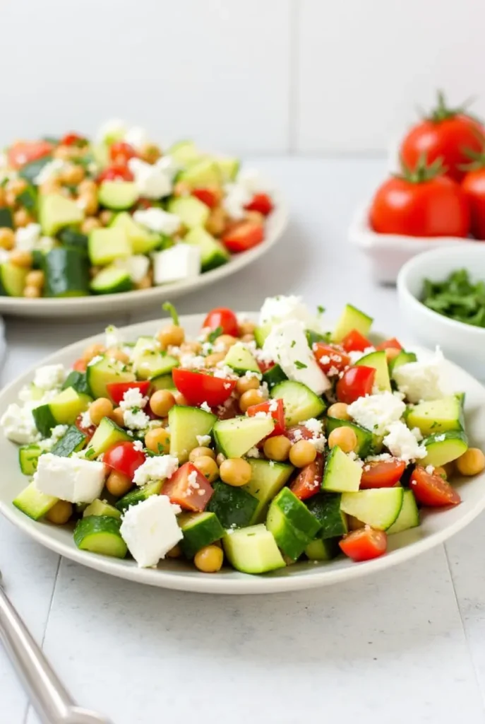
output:
[[436,88],[484,114],[477,0],[301,0],[297,151],[382,151]]

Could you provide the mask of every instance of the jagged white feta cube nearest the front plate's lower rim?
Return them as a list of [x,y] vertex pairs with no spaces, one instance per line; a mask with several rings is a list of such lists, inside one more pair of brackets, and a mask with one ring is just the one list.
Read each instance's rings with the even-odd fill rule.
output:
[[119,532],[140,568],[157,565],[183,538],[179,510],[166,495],[150,495],[126,510]]

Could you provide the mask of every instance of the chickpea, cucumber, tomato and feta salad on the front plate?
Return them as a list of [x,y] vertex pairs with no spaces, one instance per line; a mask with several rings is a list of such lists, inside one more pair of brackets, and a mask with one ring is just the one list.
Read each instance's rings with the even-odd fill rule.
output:
[[40,367],[1,418],[31,478],[13,504],[80,549],[205,573],[369,560],[484,470],[442,353],[374,345],[359,309],[327,332],[279,296],[257,324],[214,309],[188,340],[165,307],[153,337],[109,327],[72,369]]

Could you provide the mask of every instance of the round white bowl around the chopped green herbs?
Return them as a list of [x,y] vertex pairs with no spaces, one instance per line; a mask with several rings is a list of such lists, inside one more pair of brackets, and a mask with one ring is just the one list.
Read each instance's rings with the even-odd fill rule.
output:
[[419,301],[424,279],[441,282],[456,269],[466,269],[474,282],[485,280],[485,244],[433,249],[408,261],[398,276],[400,313],[417,340],[439,345],[447,358],[484,380],[485,329],[448,319]]

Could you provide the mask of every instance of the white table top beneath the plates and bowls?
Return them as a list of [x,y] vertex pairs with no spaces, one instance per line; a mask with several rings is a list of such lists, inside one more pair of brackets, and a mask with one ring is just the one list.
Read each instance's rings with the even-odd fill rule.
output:
[[[293,292],[335,316],[345,302],[405,338],[395,290],[376,287],[346,229],[385,172],[378,160],[254,159],[288,196],[274,251],[181,313],[258,308]],[[2,382],[69,342],[157,316],[59,324],[7,320]],[[115,724],[359,719],[483,723],[485,518],[419,560],[353,584],[268,597],[211,597],[108,578],[30,542],[0,520],[9,595],[81,704]],[[0,651],[0,720],[34,724]]]

